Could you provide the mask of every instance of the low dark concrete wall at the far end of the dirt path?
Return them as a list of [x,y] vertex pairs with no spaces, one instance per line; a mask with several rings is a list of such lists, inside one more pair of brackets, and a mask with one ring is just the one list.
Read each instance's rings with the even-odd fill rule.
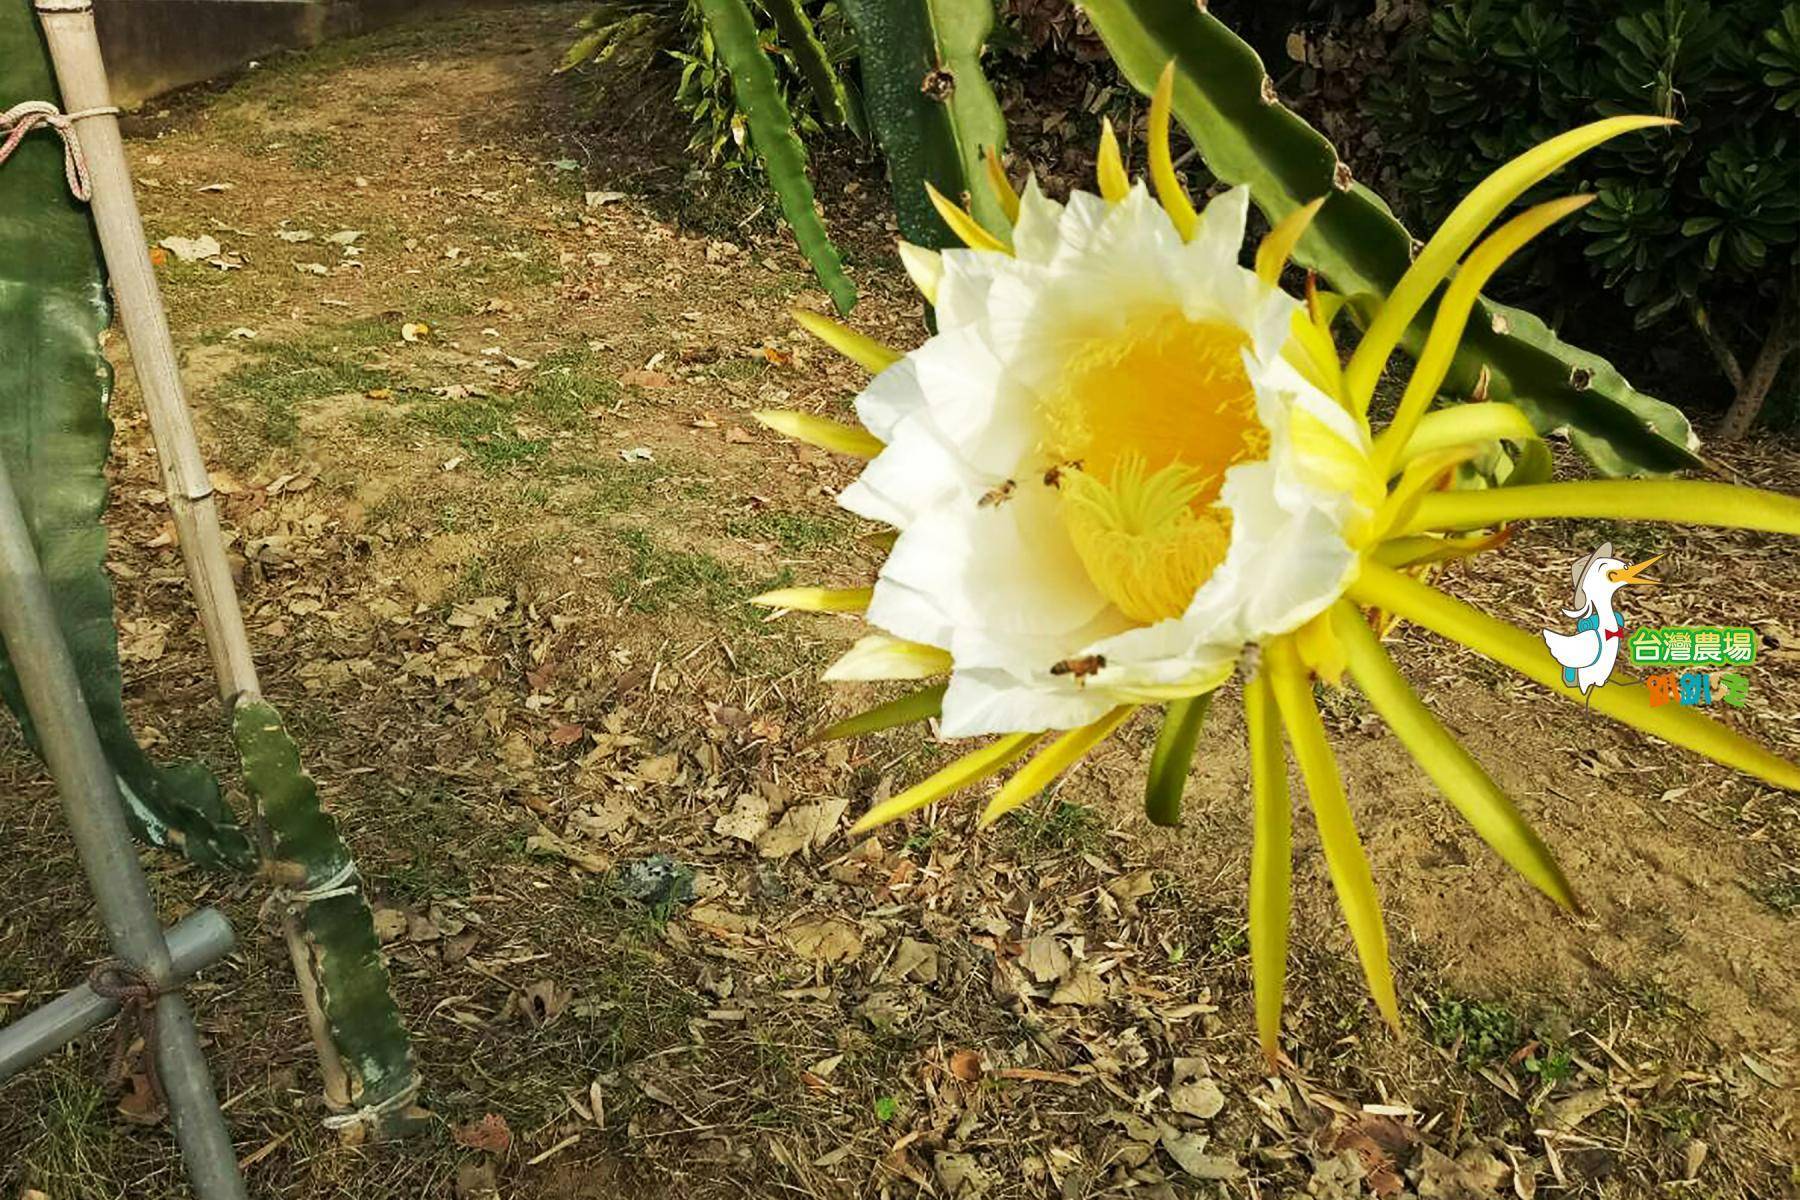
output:
[[274,50],[378,29],[446,0],[94,0],[113,103],[139,104]]

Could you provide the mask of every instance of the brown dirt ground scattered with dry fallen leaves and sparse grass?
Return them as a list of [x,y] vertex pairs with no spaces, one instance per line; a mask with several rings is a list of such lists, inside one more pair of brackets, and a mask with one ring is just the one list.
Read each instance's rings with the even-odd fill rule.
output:
[[[389,910],[443,1117],[337,1144],[263,889],[148,855],[171,919],[216,903],[239,930],[193,999],[254,1195],[1800,1195],[1795,797],[1422,633],[1399,633],[1402,666],[1588,912],[1512,878],[1328,694],[1404,1036],[1363,995],[1301,813],[1292,1063],[1264,1070],[1235,696],[1179,831],[1134,813],[1139,721],[988,835],[965,799],[848,842],[848,815],[947,750],[805,747],[868,702],[815,682],[855,626],[742,601],[868,578],[830,506],[846,466],[747,416],[841,410],[860,378],[787,320],[824,300],[754,201],[695,200],[679,130],[562,133],[571,20],[439,18],[133,122],[151,239],[221,243],[223,268],[160,268],[171,318],[265,687]],[[913,344],[878,187],[848,171],[824,200],[857,324]],[[158,752],[229,777],[122,356],[117,421],[128,702]],[[1796,464],[1771,441],[1723,466],[1793,489]],[[1669,554],[1633,622],[1764,635],[1728,720],[1800,752],[1791,543],[1544,524],[1445,587],[1537,628],[1604,538]],[[5,1018],[104,948],[49,786],[0,739]],[[657,853],[693,900],[626,894],[619,869]],[[0,1088],[5,1200],[187,1195],[167,1130],[113,1114],[104,1060],[94,1038]],[[490,1114],[509,1146],[463,1144]]]

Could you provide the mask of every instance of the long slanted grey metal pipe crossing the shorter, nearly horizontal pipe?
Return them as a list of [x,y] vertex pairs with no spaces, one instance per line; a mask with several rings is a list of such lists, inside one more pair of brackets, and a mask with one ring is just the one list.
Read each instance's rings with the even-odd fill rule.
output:
[[[31,529],[0,457],[0,640],[5,642],[38,730],[43,761],[56,779],[63,817],[76,838],[81,869],[99,903],[113,954],[146,972],[158,988],[175,973],[162,939],[157,903],[137,862],[124,806],[101,750],[76,664],[68,657]],[[247,1200],[238,1153],[225,1128],[200,1034],[180,991],[157,999],[157,1074],[167,1094],[187,1178],[200,1200]]]

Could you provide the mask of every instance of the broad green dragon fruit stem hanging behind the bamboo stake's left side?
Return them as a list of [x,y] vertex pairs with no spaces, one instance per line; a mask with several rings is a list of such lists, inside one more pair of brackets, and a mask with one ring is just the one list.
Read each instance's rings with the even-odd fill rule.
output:
[[[0,11],[0,104],[58,99],[27,4]],[[99,246],[86,207],[68,196],[63,148],[45,131],[32,133],[0,166],[0,453],[18,486],[131,829],[202,865],[247,869],[256,853],[212,775],[198,763],[153,765],[124,718],[101,525],[112,369],[99,335],[108,320]],[[4,653],[0,696],[23,716]],[[23,725],[31,738],[31,721]]]

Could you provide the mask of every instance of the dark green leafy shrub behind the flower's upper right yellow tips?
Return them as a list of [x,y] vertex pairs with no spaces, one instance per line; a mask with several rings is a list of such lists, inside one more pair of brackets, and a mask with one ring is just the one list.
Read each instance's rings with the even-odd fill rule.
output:
[[[1595,201],[1541,241],[1523,286],[1575,326],[1624,304],[1642,345],[1687,329],[1735,389],[1721,428],[1735,437],[1800,344],[1796,106],[1793,0],[1453,0],[1400,40],[1368,112],[1393,198],[1422,225],[1559,130],[1622,112],[1679,121],[1586,160]],[[1568,191],[1555,178],[1532,198]]]

